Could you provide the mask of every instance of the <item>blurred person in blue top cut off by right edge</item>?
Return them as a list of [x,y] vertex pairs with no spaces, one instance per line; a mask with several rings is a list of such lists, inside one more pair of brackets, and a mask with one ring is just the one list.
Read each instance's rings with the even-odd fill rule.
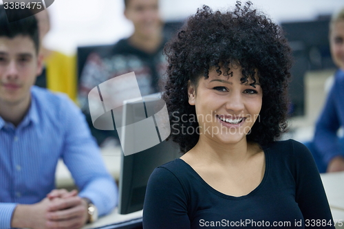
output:
[[344,138],[337,135],[338,129],[344,127],[344,8],[332,16],[330,49],[338,69],[316,122],[314,139],[306,143],[320,173],[344,171]]

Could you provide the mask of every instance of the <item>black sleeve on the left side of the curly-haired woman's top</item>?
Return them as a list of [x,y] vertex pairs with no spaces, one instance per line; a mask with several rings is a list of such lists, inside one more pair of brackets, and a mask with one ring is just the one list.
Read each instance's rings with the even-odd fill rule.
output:
[[143,206],[144,229],[190,229],[186,194],[180,181],[164,167],[155,168]]

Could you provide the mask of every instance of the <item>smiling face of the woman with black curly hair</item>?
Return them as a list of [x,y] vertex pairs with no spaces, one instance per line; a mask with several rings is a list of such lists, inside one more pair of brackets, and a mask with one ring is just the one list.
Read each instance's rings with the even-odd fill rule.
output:
[[[231,66],[230,76],[209,69],[208,78],[201,77],[197,86],[189,84],[189,104],[195,105],[200,140],[210,138],[218,143],[236,144],[246,140],[261,110],[263,91],[256,77],[241,83],[240,66]],[[224,71],[222,71],[224,72]]]

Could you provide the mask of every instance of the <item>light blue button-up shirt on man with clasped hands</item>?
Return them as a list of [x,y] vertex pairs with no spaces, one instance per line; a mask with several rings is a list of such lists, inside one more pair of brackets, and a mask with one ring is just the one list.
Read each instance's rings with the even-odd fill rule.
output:
[[54,189],[59,158],[79,196],[91,199],[99,215],[110,212],[118,190],[80,109],[67,96],[39,87],[32,87],[31,98],[17,127],[0,117],[0,229],[10,228],[17,204],[39,202]]

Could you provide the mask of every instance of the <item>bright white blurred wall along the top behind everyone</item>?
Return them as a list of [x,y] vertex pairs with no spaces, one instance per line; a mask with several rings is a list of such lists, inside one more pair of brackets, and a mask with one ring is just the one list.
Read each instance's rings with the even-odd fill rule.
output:
[[[52,30],[45,44],[63,52],[78,45],[114,43],[133,28],[122,14],[123,0],[55,0],[50,6]],[[194,14],[203,4],[213,9],[235,6],[235,0],[160,0],[162,17],[175,21]],[[312,20],[344,7],[343,0],[252,0],[253,6],[282,21]]]

